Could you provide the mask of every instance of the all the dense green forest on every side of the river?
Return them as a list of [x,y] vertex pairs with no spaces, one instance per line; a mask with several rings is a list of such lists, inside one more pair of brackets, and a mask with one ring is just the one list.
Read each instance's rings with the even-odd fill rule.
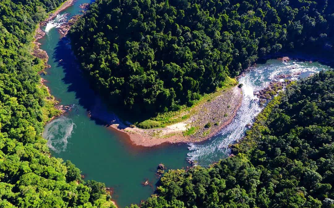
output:
[[[113,207],[104,184],[50,157],[41,136],[58,111],[31,42],[61,2],[0,1],[0,207]],[[166,111],[277,51],[332,52],[333,8],[326,0],[98,0],[71,38],[111,101]],[[330,71],[291,85],[232,147],[235,156],[167,172],[142,207],[334,207],[333,83]]]

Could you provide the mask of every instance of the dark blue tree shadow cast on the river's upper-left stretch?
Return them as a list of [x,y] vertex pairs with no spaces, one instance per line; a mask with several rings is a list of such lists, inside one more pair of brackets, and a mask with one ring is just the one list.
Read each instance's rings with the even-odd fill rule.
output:
[[[90,87],[89,79],[80,70],[67,38],[62,38],[58,42],[53,58],[59,60],[58,66],[63,68],[65,77],[62,81],[69,85],[67,91],[75,92],[75,98],[79,105],[89,112],[91,120],[94,120],[98,125],[119,123],[115,113],[108,109],[107,104]],[[119,125],[118,128],[124,127]]]

